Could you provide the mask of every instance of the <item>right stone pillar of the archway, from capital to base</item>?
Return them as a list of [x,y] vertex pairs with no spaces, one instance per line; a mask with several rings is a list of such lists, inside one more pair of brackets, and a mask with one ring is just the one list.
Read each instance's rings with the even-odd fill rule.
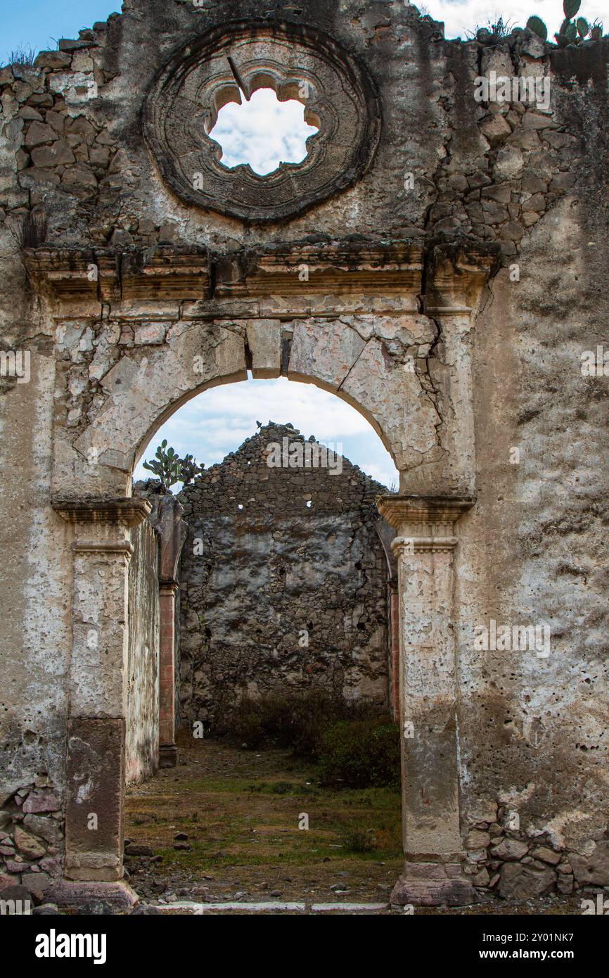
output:
[[395,526],[400,601],[404,874],[397,904],[463,905],[458,811],[455,524],[471,500],[384,496]]

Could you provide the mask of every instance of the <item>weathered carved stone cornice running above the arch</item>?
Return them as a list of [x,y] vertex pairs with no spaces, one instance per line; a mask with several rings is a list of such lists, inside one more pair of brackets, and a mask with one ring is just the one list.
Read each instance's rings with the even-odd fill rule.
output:
[[[213,256],[195,246],[117,252],[26,248],[23,261],[37,289],[77,303],[268,296],[393,295],[427,315],[469,315],[497,263],[495,243],[423,244],[334,240],[271,244]],[[213,289],[212,289],[213,283]],[[204,309],[199,310],[204,314]]]

